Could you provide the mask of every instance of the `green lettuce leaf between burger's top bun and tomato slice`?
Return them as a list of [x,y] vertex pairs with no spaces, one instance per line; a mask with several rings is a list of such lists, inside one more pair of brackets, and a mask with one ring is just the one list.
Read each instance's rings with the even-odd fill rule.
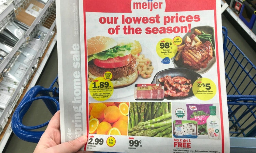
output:
[[107,60],[108,58],[123,57],[131,53],[131,43],[123,46],[115,46],[103,52],[88,56],[88,62],[93,59]]

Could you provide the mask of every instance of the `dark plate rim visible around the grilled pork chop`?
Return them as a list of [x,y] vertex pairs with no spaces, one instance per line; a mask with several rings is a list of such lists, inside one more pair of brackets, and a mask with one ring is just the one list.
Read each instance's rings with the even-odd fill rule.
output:
[[[205,34],[212,34],[212,35],[214,35],[214,29],[213,29],[213,27],[210,27],[210,26],[195,27],[195,28],[192,28],[192,29],[191,29],[191,32],[190,32],[190,33],[187,33],[187,34],[182,38],[182,40],[184,40],[184,39],[186,38],[186,36],[190,36],[191,34],[193,34],[195,29],[198,29],[198,30],[200,30],[200,31],[203,31]],[[203,43],[205,43],[205,41],[206,41],[206,40],[203,40],[203,39],[200,39],[200,40],[201,40]],[[213,43],[212,46],[215,48],[215,42],[213,41],[212,43]],[[184,44],[184,43],[182,43],[181,45],[183,45],[183,44]],[[177,54],[176,54],[176,55],[177,55]],[[173,64],[174,64],[174,66],[175,66],[175,67],[184,67],[184,65],[183,65],[183,63],[182,63],[181,60],[175,61],[176,55],[175,55],[174,57],[172,57],[172,62],[173,62]],[[201,68],[200,70],[193,70],[193,71],[197,72],[198,74],[203,74],[203,73],[207,72],[207,71],[214,65],[215,62],[216,62],[216,58],[215,58],[215,53],[214,53],[213,58],[208,62],[206,68]]]

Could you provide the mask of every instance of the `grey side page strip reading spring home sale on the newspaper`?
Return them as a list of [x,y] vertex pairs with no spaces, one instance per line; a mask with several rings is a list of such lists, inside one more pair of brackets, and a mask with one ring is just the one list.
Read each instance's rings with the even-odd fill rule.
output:
[[[56,0],[61,142],[83,135],[78,0]],[[84,113],[86,114],[86,113]]]

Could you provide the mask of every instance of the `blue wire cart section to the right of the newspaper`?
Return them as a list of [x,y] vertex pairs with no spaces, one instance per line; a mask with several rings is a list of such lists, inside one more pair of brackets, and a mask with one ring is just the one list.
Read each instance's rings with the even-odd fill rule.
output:
[[256,152],[256,67],[223,27],[230,152]]

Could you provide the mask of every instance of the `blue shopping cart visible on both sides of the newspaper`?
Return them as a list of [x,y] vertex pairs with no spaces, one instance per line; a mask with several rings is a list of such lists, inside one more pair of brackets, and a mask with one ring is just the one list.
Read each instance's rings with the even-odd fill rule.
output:
[[[223,27],[223,48],[225,60],[226,88],[230,130],[230,152],[256,152],[256,67],[233,43]],[[59,109],[58,77],[49,88],[31,88],[14,112],[12,129],[19,138],[37,143],[44,131],[35,132],[46,126],[22,124],[23,116],[34,100],[42,99],[52,114]],[[57,86],[57,87],[56,87]],[[40,95],[39,97],[36,97]]]

